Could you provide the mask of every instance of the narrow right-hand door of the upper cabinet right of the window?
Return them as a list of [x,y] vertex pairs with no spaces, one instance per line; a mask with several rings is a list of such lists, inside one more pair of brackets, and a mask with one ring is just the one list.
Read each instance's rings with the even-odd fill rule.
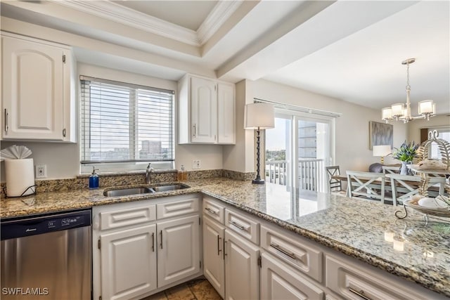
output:
[[235,100],[233,84],[217,84],[217,143],[234,144]]

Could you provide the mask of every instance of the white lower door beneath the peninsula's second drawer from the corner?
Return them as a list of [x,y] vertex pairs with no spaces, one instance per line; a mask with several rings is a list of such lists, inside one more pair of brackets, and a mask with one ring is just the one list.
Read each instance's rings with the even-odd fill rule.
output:
[[225,299],[259,299],[259,247],[225,230]]

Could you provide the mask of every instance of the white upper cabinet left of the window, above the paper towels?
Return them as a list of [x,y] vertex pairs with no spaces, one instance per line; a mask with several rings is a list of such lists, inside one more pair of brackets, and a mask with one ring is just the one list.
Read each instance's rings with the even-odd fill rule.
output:
[[2,32],[4,140],[76,141],[70,47]]

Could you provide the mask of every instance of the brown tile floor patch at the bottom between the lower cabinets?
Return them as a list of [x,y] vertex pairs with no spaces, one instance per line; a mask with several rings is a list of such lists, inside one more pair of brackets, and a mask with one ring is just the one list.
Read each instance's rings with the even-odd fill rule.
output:
[[205,278],[198,278],[141,300],[221,300]]

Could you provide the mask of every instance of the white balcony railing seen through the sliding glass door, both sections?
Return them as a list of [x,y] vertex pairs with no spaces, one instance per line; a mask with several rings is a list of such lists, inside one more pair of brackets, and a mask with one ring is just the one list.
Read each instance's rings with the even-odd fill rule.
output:
[[[288,162],[274,160],[266,162],[266,181],[286,185]],[[301,190],[326,191],[326,174],[323,159],[299,159],[298,188]]]

